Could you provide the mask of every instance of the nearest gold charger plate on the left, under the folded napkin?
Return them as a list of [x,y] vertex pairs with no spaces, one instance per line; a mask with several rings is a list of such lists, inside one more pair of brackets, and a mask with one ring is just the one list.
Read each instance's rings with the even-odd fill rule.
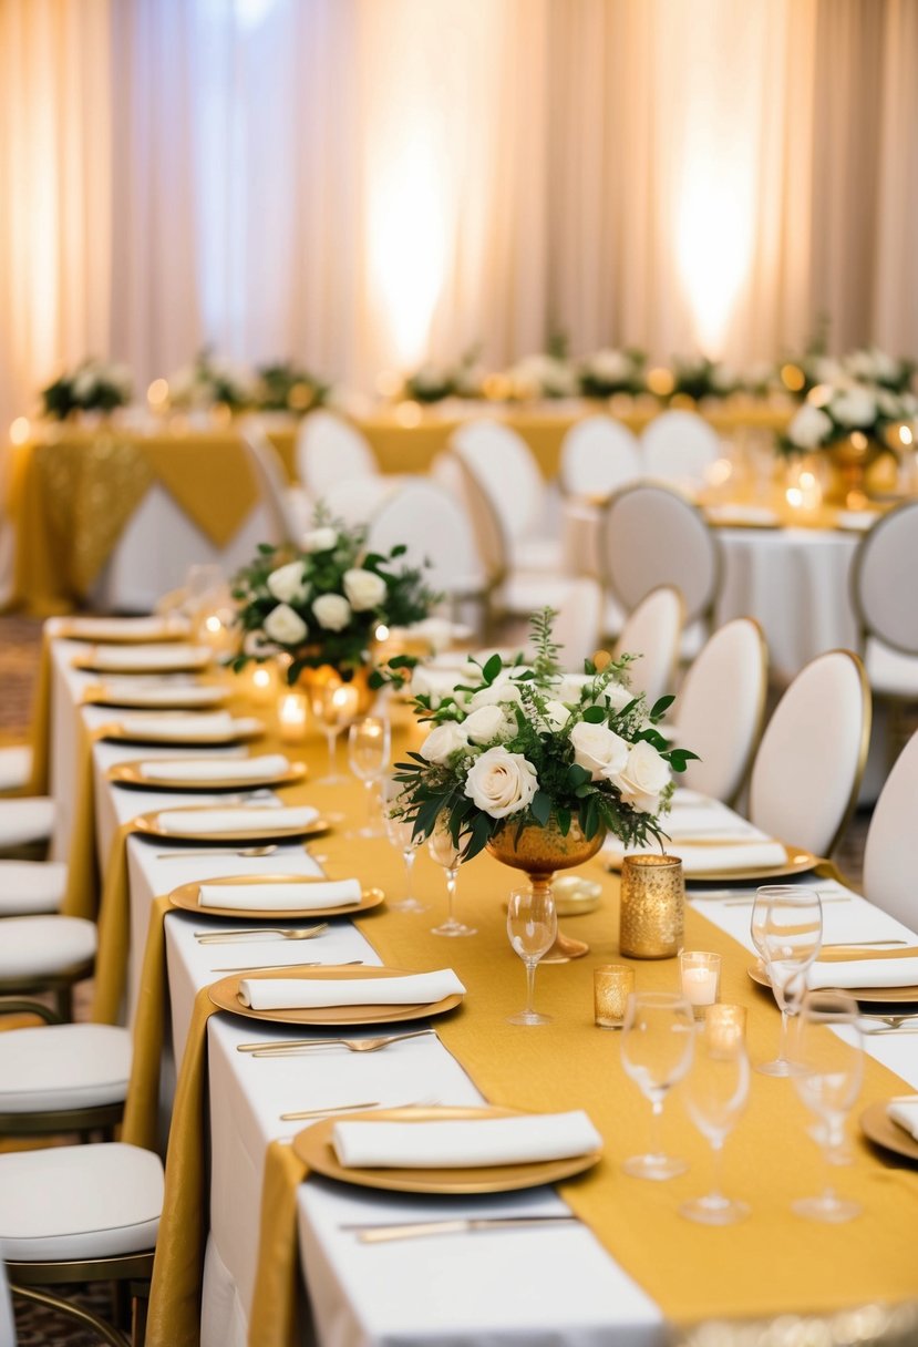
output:
[[[373,1113],[349,1113],[347,1122],[458,1122],[478,1118],[518,1117],[518,1109],[413,1107],[376,1109]],[[293,1137],[293,1152],[310,1171],[326,1179],[358,1184],[362,1188],[389,1188],[396,1192],[429,1192],[466,1196],[475,1192],[511,1192],[514,1188],[537,1188],[559,1183],[598,1164],[602,1150],[568,1160],[538,1160],[518,1165],[476,1165],[454,1169],[347,1168],[331,1145],[331,1131],[338,1118],[323,1118]]]

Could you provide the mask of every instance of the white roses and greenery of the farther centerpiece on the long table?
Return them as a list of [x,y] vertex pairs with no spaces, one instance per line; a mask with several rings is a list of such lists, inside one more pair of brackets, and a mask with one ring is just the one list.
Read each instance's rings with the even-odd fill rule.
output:
[[234,669],[285,655],[291,686],[304,669],[322,665],[350,680],[370,665],[381,624],[409,626],[436,602],[420,570],[396,564],[404,547],[369,552],[363,525],[345,527],[322,509],[314,523],[299,552],[261,544],[234,578],[244,632]]

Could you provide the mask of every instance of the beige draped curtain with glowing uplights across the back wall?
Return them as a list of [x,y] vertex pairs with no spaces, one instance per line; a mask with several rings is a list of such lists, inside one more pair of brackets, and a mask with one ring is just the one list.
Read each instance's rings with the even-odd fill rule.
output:
[[0,423],[205,341],[914,356],[917,121],[918,0],[0,0]]

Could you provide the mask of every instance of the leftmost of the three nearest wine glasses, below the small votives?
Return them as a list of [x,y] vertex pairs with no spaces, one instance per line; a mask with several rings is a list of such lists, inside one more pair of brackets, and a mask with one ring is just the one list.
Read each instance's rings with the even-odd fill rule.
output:
[[695,1016],[688,1001],[672,991],[635,991],[622,1025],[622,1065],[653,1109],[650,1149],[631,1156],[622,1169],[635,1179],[673,1179],[688,1165],[668,1156],[660,1140],[664,1100],[692,1064]]

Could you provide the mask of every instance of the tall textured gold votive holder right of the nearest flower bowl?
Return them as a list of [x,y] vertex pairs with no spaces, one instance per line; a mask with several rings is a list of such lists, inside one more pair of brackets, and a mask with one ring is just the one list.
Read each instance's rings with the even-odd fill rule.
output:
[[685,880],[677,855],[626,855],[622,862],[619,951],[630,959],[672,959],[682,946]]

